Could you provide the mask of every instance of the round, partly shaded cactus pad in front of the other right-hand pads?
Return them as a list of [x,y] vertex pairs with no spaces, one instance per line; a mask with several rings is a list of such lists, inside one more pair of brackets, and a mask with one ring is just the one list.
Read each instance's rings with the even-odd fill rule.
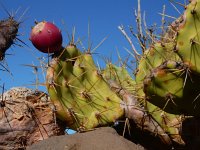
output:
[[153,69],[144,80],[149,102],[173,114],[200,115],[199,78],[184,64],[168,61]]

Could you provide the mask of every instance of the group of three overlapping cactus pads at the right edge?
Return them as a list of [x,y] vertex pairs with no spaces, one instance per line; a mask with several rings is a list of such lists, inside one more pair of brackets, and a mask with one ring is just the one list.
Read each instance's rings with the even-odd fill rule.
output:
[[191,1],[170,28],[173,38],[153,44],[139,61],[139,95],[168,113],[200,115],[199,7],[199,0]]

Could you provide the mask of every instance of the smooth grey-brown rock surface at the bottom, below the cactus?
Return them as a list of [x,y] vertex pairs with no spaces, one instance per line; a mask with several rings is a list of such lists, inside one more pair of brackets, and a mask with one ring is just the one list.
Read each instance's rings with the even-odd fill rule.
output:
[[126,140],[110,127],[85,133],[54,136],[28,147],[27,150],[145,150]]

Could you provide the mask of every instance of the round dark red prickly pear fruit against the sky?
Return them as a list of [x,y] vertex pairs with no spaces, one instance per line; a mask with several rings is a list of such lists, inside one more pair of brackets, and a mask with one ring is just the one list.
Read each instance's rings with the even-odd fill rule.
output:
[[62,48],[61,31],[50,22],[37,23],[32,28],[30,40],[43,53],[55,53]]

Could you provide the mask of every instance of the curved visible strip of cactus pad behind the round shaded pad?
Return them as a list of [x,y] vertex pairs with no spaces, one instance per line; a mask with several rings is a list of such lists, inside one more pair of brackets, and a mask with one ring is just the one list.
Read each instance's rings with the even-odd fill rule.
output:
[[157,42],[145,51],[139,61],[135,77],[137,83],[136,91],[141,101],[143,101],[145,97],[143,81],[144,78],[150,74],[151,70],[167,60],[180,60],[179,56],[173,51],[174,47],[175,42]]

